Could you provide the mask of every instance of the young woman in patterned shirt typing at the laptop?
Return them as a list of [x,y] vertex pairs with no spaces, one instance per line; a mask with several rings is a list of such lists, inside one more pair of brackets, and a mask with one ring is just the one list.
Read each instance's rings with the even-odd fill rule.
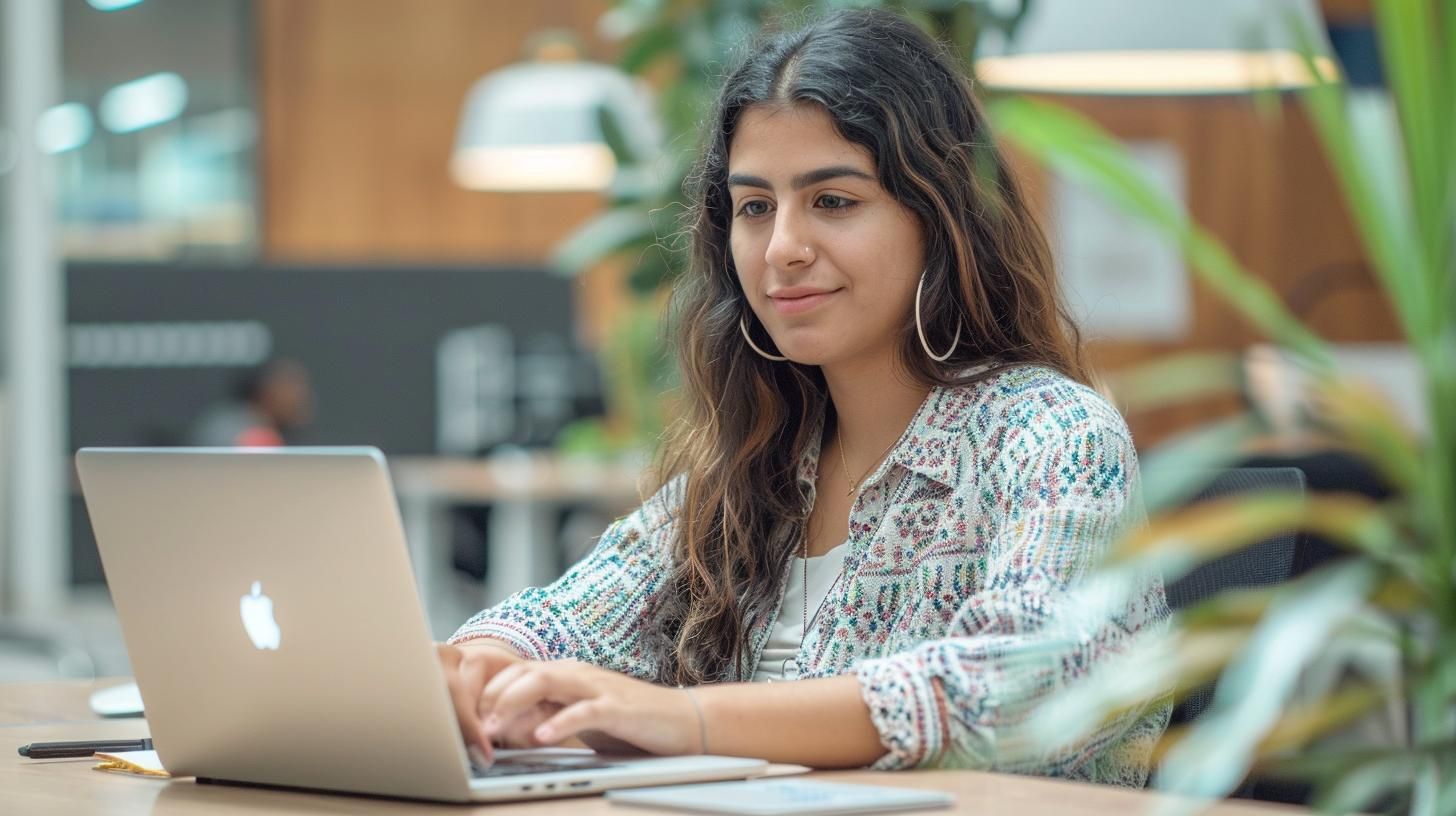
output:
[[839,13],[743,60],[709,127],[670,478],[441,647],[466,739],[1142,784],[1166,705],[1018,731],[1166,606],[1069,611],[1137,462],[968,80]]

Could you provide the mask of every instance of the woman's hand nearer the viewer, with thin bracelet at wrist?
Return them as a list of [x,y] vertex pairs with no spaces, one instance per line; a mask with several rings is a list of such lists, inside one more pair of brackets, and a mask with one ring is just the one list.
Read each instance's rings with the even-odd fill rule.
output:
[[517,662],[479,695],[485,734],[502,745],[545,746],[606,734],[649,753],[697,753],[697,707],[662,688],[575,660]]

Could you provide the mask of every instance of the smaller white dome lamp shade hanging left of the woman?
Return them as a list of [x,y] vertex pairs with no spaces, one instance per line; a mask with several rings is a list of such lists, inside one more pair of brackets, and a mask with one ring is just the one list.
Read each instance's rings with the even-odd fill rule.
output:
[[450,176],[469,189],[604,189],[617,162],[601,133],[603,108],[633,156],[657,150],[646,92],[616,68],[542,61],[494,71],[466,98]]

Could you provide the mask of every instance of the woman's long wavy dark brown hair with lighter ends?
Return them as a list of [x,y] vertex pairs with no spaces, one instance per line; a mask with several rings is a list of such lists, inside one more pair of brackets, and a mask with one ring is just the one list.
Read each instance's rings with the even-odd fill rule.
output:
[[[807,526],[798,460],[827,408],[817,366],[760,357],[738,329],[740,318],[757,322],[729,252],[728,149],[756,105],[826,111],[919,220],[926,338],[939,353],[960,325],[961,341],[943,363],[930,360],[907,312],[897,360],[913,382],[964,385],[1016,364],[1088,380],[1047,239],[955,57],[909,20],[874,10],[833,13],[748,50],[724,82],[687,185],[692,259],[670,322],[681,414],[661,460],[664,481],[683,481],[681,504],[673,571],[645,624],[664,683],[747,676],[748,625],[778,602]],[[772,348],[761,328],[756,340]],[[984,363],[992,369],[968,373]]]

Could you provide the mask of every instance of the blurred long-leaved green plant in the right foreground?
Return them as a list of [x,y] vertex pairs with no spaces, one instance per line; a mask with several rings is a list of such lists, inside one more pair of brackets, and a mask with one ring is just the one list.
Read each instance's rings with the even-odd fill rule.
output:
[[[1377,0],[1374,22],[1398,114],[1393,156],[1360,138],[1347,89],[1313,70],[1302,92],[1345,204],[1383,291],[1417,357],[1430,418],[1415,439],[1380,399],[1341,382],[1326,344],[1243,270],[1211,235],[1144,182],[1127,152],[1085,118],[1047,103],[992,103],[999,134],[1059,172],[1091,184],[1175,242],[1200,278],[1270,340],[1296,354],[1325,395],[1326,431],[1392,485],[1376,503],[1354,495],[1262,494],[1155,516],[1115,549],[1111,571],[1158,568],[1169,578],[1200,561],[1286,529],[1322,533],[1350,557],[1294,581],[1213,597],[1175,616],[1168,635],[1124,664],[1093,675],[1040,714],[1044,736],[1064,739],[1102,714],[1219,679],[1208,713],[1169,731],[1158,784],[1226,796],[1252,769],[1294,775],[1331,812],[1373,806],[1456,813],[1456,7]],[[1306,45],[1309,39],[1306,38]],[[1306,47],[1306,54],[1312,48]],[[1398,168],[1382,179],[1374,168]],[[1385,182],[1385,184],[1382,184]],[[1163,364],[1200,388],[1190,361]],[[1192,446],[1182,468],[1233,449]],[[1386,672],[1341,670],[1370,656]],[[1341,678],[1296,699],[1310,672]],[[1406,720],[1398,743],[1312,748],[1379,708]]]

